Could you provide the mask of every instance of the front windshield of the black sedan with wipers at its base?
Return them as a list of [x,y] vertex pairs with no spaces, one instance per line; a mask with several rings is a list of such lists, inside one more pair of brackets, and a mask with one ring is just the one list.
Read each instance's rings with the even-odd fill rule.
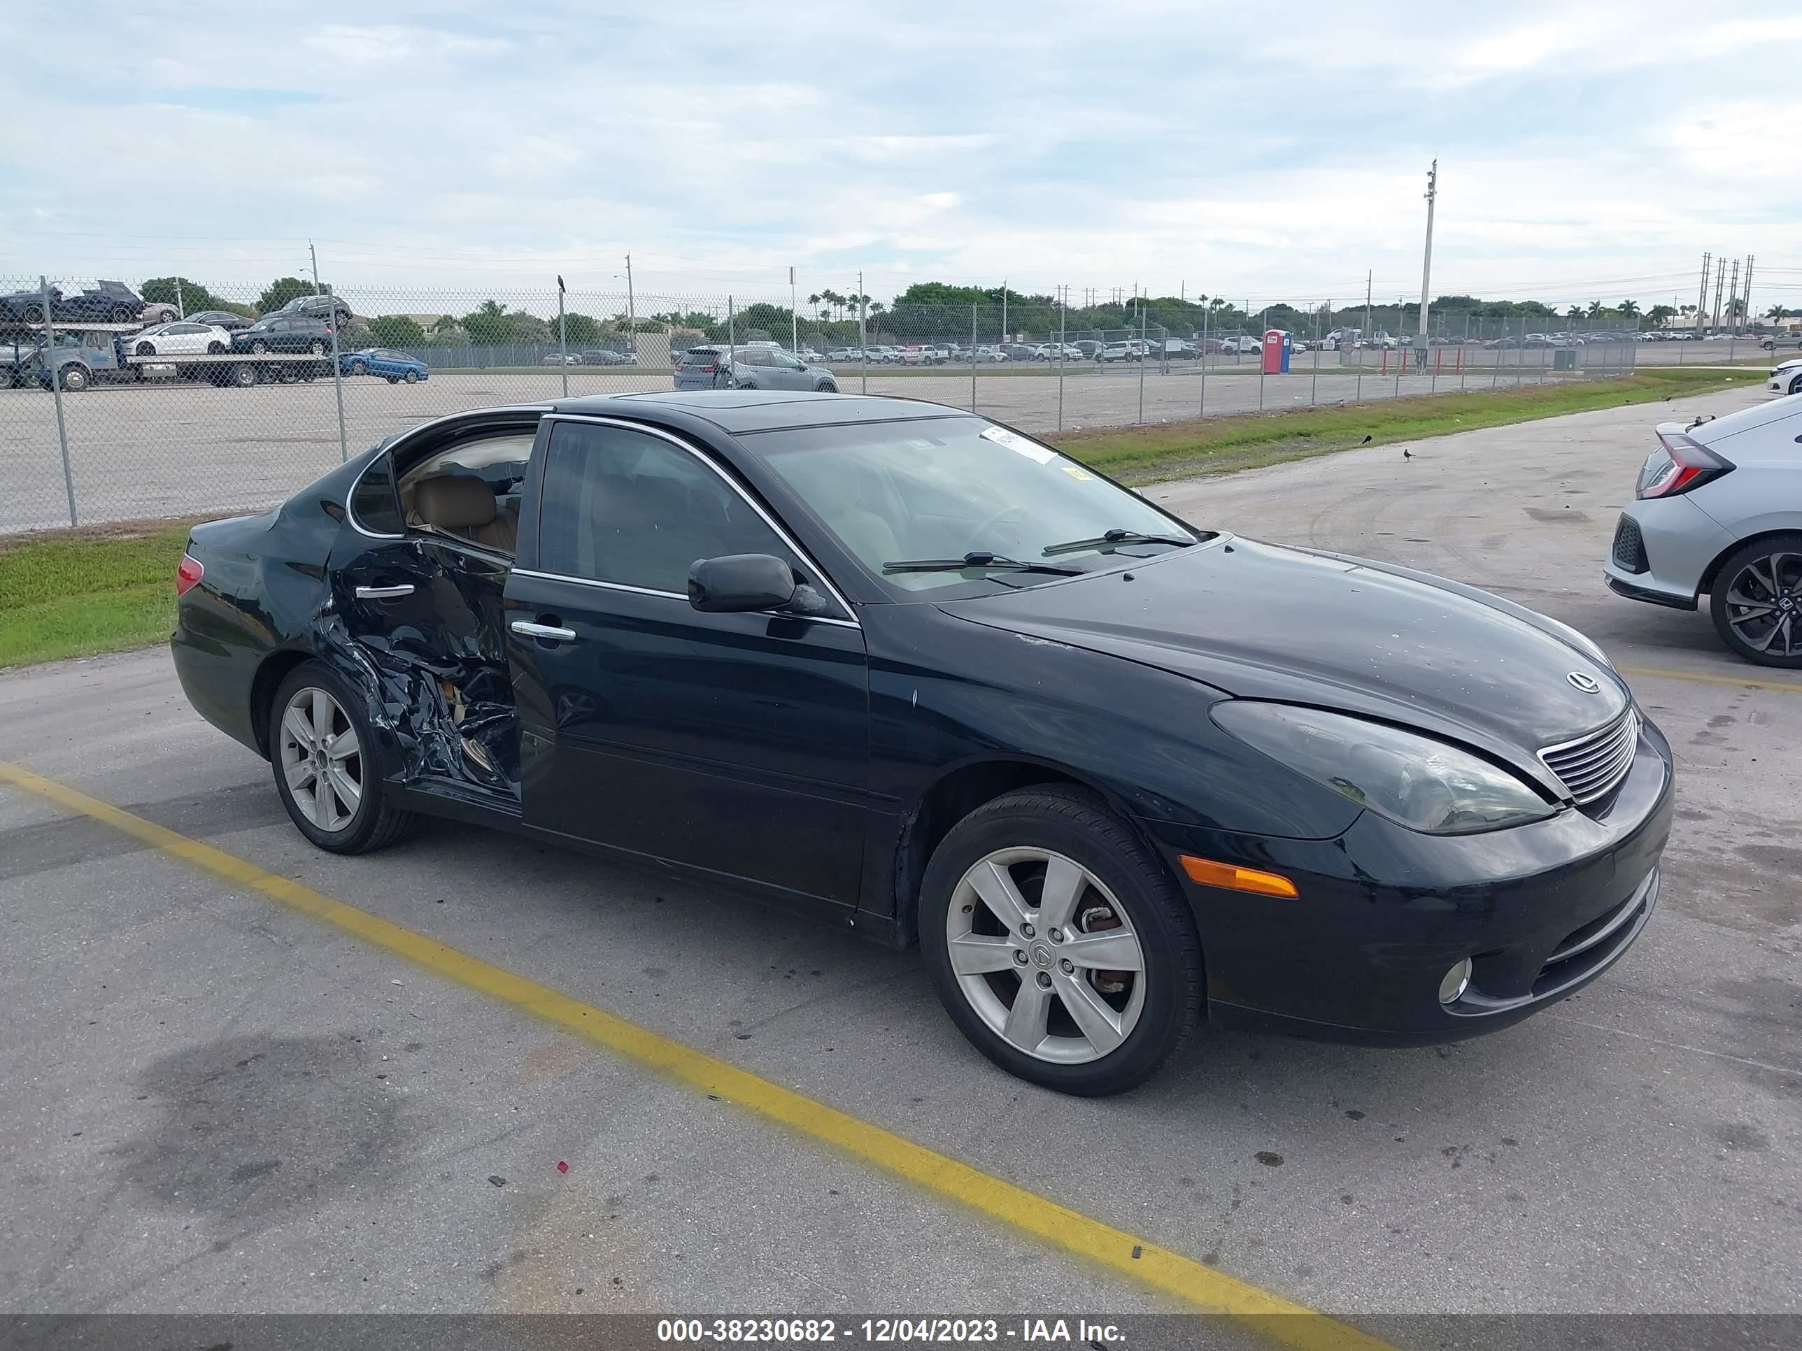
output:
[[[1110,567],[1207,539],[1047,445],[986,418],[930,418],[746,434],[887,587],[933,598],[1054,580],[1018,567],[885,571],[887,564],[993,555],[1058,571]],[[1108,540],[1108,531],[1119,531]],[[1072,548],[1079,546],[1079,548]]]

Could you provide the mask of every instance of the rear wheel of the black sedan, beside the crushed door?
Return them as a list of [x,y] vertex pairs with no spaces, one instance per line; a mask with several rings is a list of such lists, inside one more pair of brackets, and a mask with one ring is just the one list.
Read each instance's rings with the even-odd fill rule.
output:
[[387,802],[360,704],[326,663],[303,661],[268,706],[268,762],[281,805],[303,836],[333,854],[391,845],[414,821]]

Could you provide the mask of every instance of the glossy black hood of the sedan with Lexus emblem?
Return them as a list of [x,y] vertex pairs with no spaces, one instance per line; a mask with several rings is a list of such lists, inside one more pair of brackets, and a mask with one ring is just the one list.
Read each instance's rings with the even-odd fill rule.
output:
[[[1553,791],[1539,749],[1611,722],[1631,703],[1573,630],[1501,596],[1393,564],[1225,535],[1126,573],[939,607],[1227,695],[1420,728],[1487,749]],[[1597,692],[1579,688],[1591,681]]]

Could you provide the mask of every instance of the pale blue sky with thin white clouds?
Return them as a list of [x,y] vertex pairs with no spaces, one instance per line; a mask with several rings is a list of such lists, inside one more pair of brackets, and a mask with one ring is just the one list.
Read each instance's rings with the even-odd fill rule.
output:
[[409,9],[32,9],[0,277],[1393,301],[1438,157],[1434,294],[1802,306],[1786,4]]

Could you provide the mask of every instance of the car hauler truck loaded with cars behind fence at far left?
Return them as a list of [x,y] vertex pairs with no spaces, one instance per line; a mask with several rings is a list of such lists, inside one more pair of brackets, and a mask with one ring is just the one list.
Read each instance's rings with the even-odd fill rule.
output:
[[[23,326],[22,326],[23,328]],[[299,351],[207,351],[182,357],[139,357],[132,335],[142,324],[56,324],[0,333],[0,384],[50,387],[50,366],[65,394],[99,384],[171,384],[196,380],[249,389],[259,384],[292,384],[332,376],[332,357]],[[45,353],[54,353],[45,362]]]

